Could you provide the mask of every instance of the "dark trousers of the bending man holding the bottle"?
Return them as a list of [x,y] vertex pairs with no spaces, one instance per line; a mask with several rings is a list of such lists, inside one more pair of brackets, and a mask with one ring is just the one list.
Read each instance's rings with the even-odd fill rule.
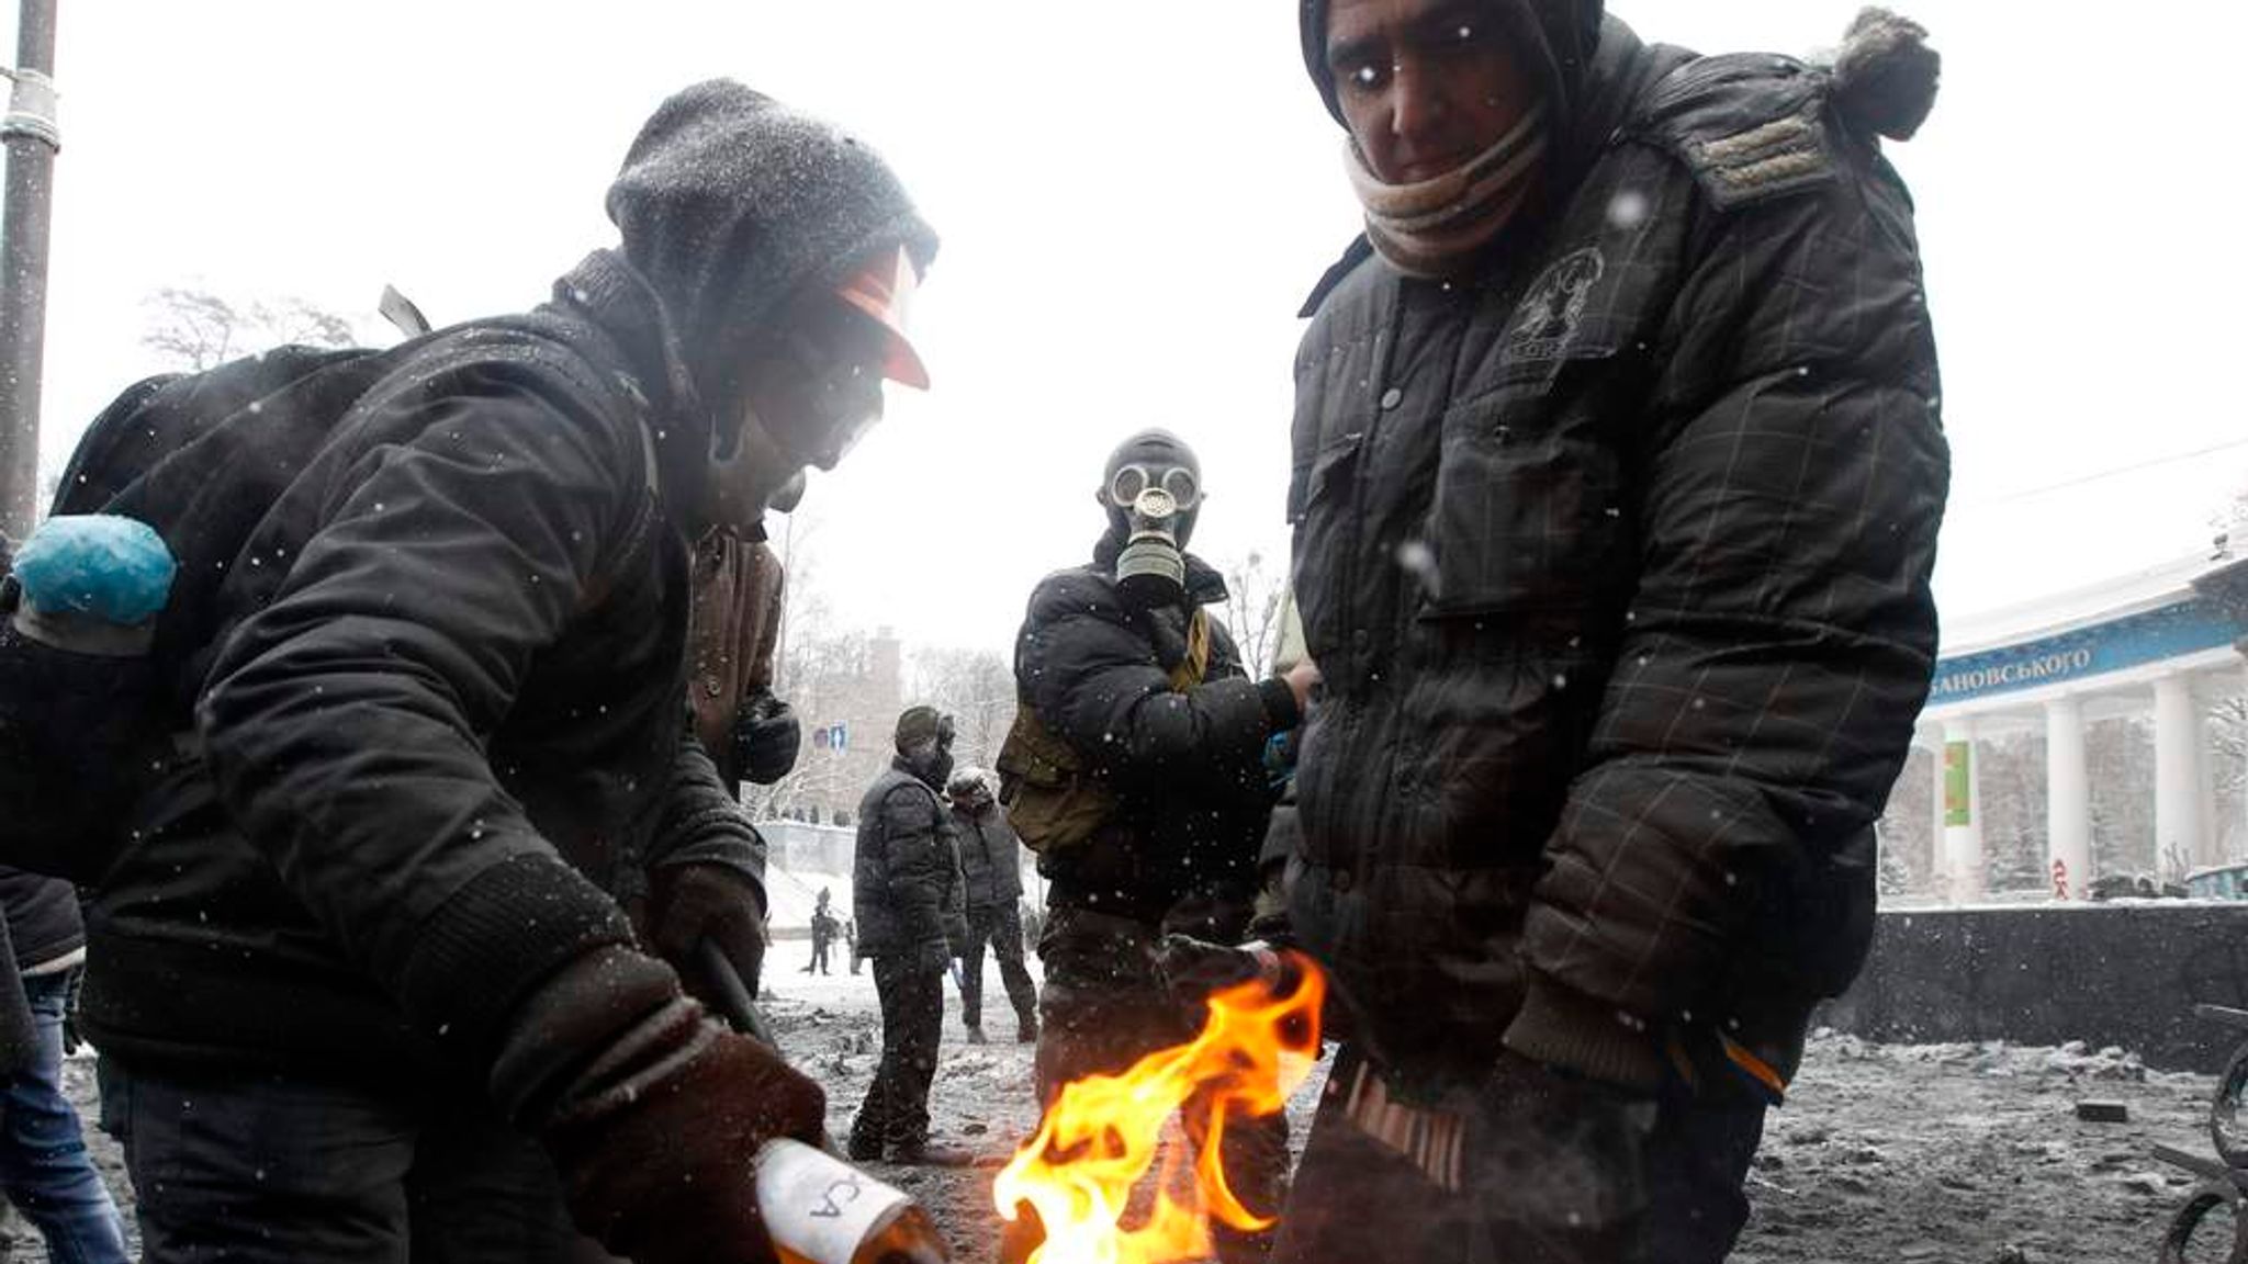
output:
[[146,1264],[591,1264],[546,1154],[483,1102],[103,1059]]

